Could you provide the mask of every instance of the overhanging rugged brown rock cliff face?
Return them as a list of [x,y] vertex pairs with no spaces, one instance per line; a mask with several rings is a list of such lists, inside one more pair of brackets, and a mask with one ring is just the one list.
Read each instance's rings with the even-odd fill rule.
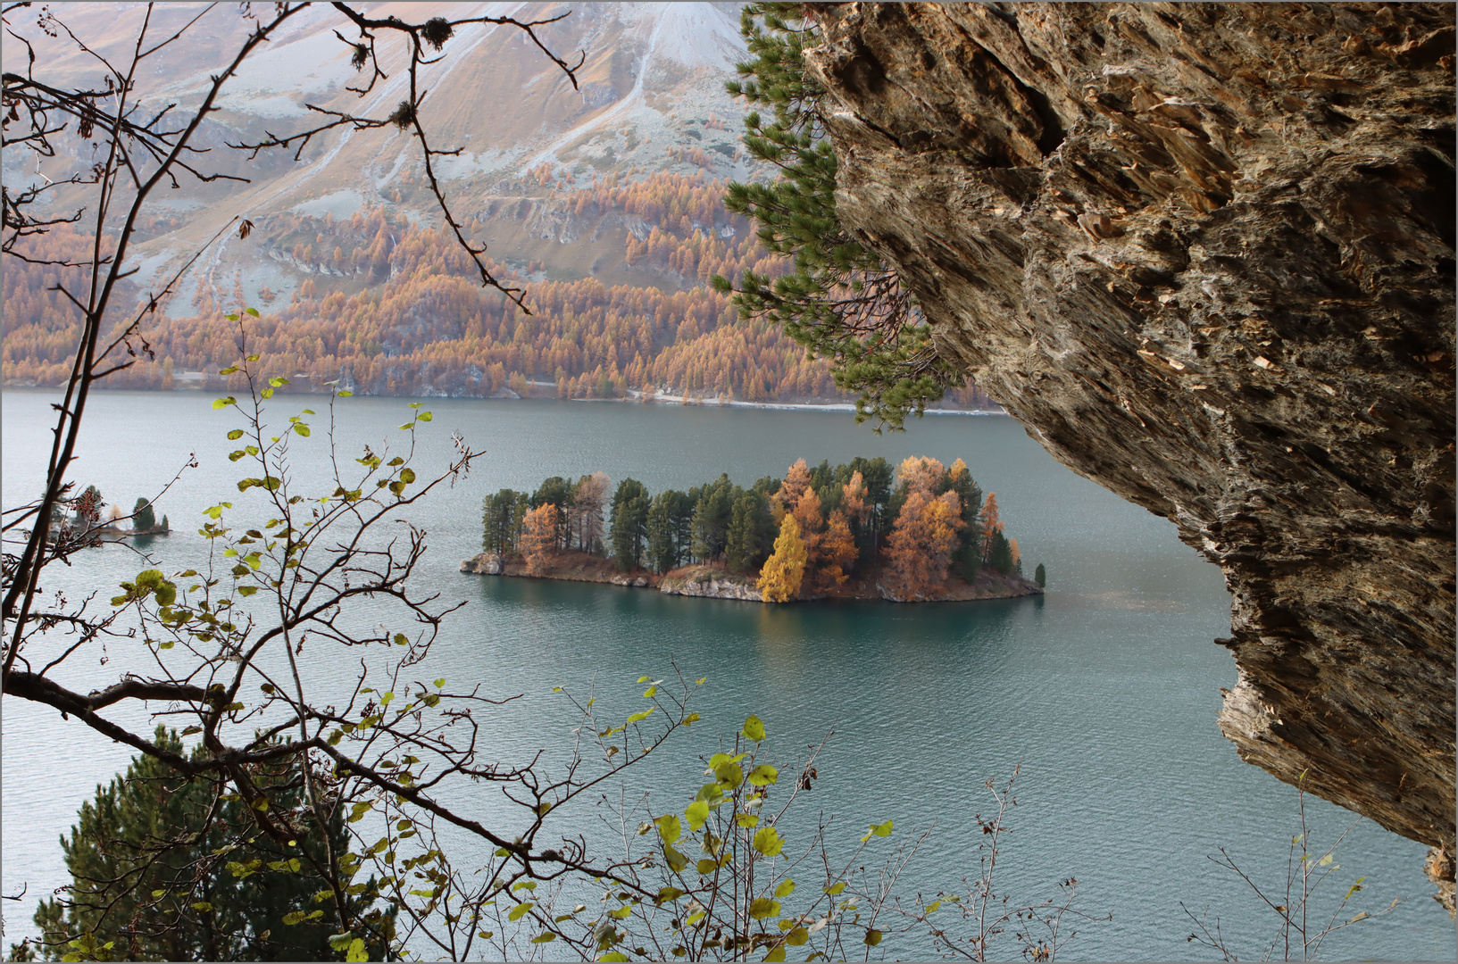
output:
[[1241,755],[1454,853],[1454,7],[818,7],[843,222],[1233,596]]

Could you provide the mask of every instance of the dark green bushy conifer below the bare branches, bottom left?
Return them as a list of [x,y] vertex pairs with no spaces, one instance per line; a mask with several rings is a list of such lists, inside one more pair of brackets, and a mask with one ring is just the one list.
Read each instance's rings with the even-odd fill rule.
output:
[[[185,753],[176,731],[157,726],[157,745]],[[197,751],[194,751],[197,753]],[[297,809],[303,790],[296,770],[274,774],[270,805]],[[210,808],[222,820],[207,823]],[[344,820],[328,824],[335,853],[348,850]],[[48,957],[160,961],[343,960],[332,903],[313,900],[327,885],[313,871],[324,841],[300,836],[278,847],[258,833],[239,801],[217,799],[217,788],[188,780],[155,757],[136,757],[125,774],[83,804],[70,837],[61,837],[71,885],[35,913]],[[373,879],[351,898],[359,911],[375,903]],[[315,917],[308,917],[315,910]],[[364,941],[381,960],[394,917],[370,911]],[[353,938],[351,938],[353,939]],[[74,942],[74,944],[71,944]],[[106,945],[111,945],[109,948]]]

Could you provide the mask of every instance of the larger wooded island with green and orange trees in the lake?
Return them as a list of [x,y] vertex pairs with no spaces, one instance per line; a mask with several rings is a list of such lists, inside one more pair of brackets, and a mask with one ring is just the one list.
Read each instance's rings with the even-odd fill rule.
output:
[[633,478],[609,489],[593,473],[487,496],[483,551],[461,572],[757,602],[1003,599],[1045,582],[1042,566],[1024,578],[997,494],[983,497],[962,459],[799,459],[746,489],[728,475],[656,496]]

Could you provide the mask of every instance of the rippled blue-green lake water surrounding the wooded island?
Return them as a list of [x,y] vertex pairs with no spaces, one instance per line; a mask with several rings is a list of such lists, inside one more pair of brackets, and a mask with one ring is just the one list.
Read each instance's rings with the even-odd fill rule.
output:
[[[39,490],[54,398],[42,389],[3,395],[6,506]],[[381,439],[401,438],[407,401],[341,401],[344,451],[364,442],[378,451]],[[846,840],[886,818],[898,836],[935,823],[929,850],[904,879],[907,893],[933,893],[977,872],[980,834],[971,815],[989,808],[983,782],[1005,780],[1021,763],[1019,805],[1009,818],[1015,833],[1002,856],[1013,898],[1053,895],[1056,881],[1076,876],[1079,906],[1114,916],[1080,928],[1066,957],[1212,960],[1185,942],[1181,903],[1219,913],[1242,957],[1274,933],[1274,916],[1261,914],[1244,885],[1206,859],[1225,847],[1274,885],[1298,833],[1296,792],[1242,763],[1215,723],[1220,687],[1235,684],[1233,659],[1212,642],[1229,631],[1219,570],[1181,544],[1172,524],[1060,465],[1012,419],[929,416],[905,433],[876,436],[844,413],[417,401],[434,413],[421,430],[417,470],[443,464],[452,432],[487,451],[478,470],[421,505],[413,521],[430,534],[423,585],[468,602],[421,671],[439,668],[452,683],[480,683],[493,696],[523,694],[486,720],[499,758],[566,747],[570,719],[551,687],[596,685],[605,700],[625,706],[637,697],[634,680],[668,675],[672,661],[709,683],[698,706],[703,723],[671,744],[656,770],[633,777],[642,780],[633,789],[653,790],[663,808],[678,796],[679,808],[687,804],[695,757],[716,750],[717,738],[732,739],[746,712],[764,719],[786,760],[834,729],[815,806],[835,814]],[[238,467],[225,458],[232,446],[223,438],[236,413],[213,411],[210,403],[198,392],[98,392],[86,417],[74,477],[124,508],[150,497],[197,454],[200,467],[157,505],[174,528],[152,547],[165,569],[203,559],[200,512],[236,493]],[[276,403],[277,420],[319,407],[308,397]],[[299,477],[322,484],[319,424],[295,452]],[[652,491],[720,473],[749,484],[783,475],[796,458],[814,465],[856,455],[964,458],[983,490],[997,493],[1025,569],[1047,566],[1047,595],[765,607],[458,572],[480,548],[483,496],[502,487],[535,489],[547,475],[596,470],[614,484],[631,475]],[[45,588],[108,596],[140,567],[127,548],[87,550]],[[106,665],[98,649],[66,681],[87,690],[114,680],[131,659],[124,649],[114,643]],[[350,678],[347,661],[306,650],[311,658],[319,685]],[[7,699],[0,709],[3,891],[28,887],[23,901],[3,909],[6,939],[16,941],[34,930],[38,897],[67,879],[58,834],[130,754],[34,704]],[[1308,811],[1317,841],[1350,821],[1322,801]],[[484,805],[484,812],[497,811]],[[588,817],[567,821],[592,825]],[[1408,900],[1333,936],[1325,957],[1454,960],[1454,926],[1429,897],[1424,852],[1371,823],[1353,831],[1338,852],[1340,890],[1365,876],[1366,891],[1350,913],[1375,911],[1397,895]]]

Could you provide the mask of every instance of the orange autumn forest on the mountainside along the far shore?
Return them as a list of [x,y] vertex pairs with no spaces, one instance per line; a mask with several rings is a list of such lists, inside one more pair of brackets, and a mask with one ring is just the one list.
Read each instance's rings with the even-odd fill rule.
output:
[[[742,322],[729,298],[707,284],[745,268],[776,274],[781,261],[729,214],[723,181],[704,171],[608,175],[585,190],[555,190],[550,169],[523,191],[488,197],[467,222],[468,236],[522,252],[522,235],[548,245],[541,258],[493,263],[525,286],[531,315],[483,290],[453,238],[383,207],[348,217],[297,211],[261,219],[246,241],[278,276],[303,276],[292,293],[267,279],[200,281],[187,303],[166,305],[143,325],[155,359],[141,359],[117,386],[222,386],[216,372],[239,354],[245,305],[248,351],[299,391],[338,379],[363,394],[620,398],[628,392],[744,401],[846,401],[822,360],[811,360],[783,331]],[[404,181],[410,190],[408,178]],[[541,235],[548,235],[541,238]],[[574,241],[572,241],[574,239]],[[564,241],[598,252],[583,277],[542,260]],[[71,229],[47,236],[52,249],[80,254],[89,239]],[[525,254],[534,249],[525,246]],[[579,260],[580,263],[580,260]],[[76,311],[48,290],[64,271],[12,267],[4,277],[7,384],[60,384],[70,369]],[[284,287],[283,280],[277,281]],[[948,403],[990,404],[967,388]]]

